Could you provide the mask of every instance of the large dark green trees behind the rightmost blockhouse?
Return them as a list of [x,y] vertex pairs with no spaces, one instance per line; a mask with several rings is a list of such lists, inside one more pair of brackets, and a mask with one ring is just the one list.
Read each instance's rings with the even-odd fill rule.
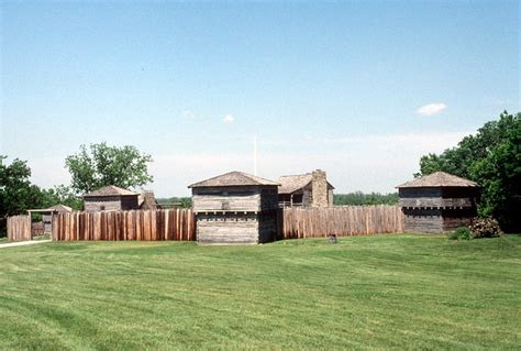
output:
[[415,176],[436,171],[477,182],[483,186],[479,215],[497,218],[505,230],[521,230],[521,112],[505,111],[456,147],[421,157]]

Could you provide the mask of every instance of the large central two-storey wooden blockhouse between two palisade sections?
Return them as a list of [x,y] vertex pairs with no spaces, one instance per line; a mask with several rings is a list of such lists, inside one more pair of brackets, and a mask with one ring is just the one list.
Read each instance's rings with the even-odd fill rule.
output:
[[200,244],[255,244],[275,240],[278,184],[230,172],[189,186]]

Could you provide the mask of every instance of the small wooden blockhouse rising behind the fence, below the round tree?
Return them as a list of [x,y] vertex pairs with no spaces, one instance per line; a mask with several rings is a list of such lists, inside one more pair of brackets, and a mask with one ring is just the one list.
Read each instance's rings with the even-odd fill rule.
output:
[[84,195],[86,211],[119,211],[138,209],[140,194],[128,189],[108,185],[92,193]]

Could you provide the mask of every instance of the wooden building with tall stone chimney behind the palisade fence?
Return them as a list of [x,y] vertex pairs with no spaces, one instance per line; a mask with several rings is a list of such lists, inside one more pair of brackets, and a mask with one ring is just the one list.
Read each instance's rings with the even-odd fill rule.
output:
[[329,207],[333,206],[334,187],[321,169],[300,175],[281,176],[278,179],[280,207]]

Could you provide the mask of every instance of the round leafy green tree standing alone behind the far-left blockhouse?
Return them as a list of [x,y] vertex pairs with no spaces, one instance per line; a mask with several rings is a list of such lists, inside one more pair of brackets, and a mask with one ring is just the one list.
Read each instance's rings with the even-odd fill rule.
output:
[[153,180],[147,164],[152,156],[141,153],[135,146],[108,146],[91,144],[65,160],[73,179],[71,188],[77,194],[90,193],[107,185],[122,188],[143,186]]

